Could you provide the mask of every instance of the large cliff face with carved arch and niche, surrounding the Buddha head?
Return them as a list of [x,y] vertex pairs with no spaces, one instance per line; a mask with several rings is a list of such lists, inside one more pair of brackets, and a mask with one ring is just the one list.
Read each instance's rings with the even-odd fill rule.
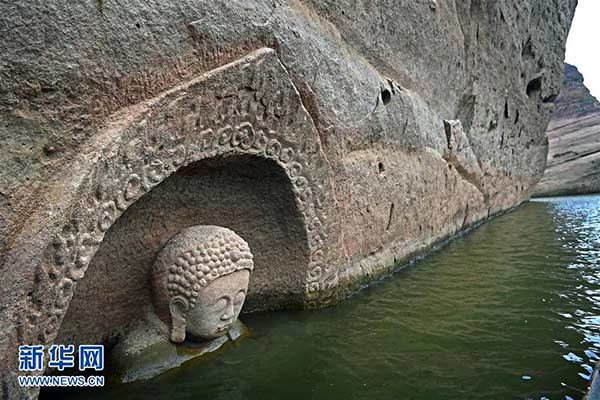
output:
[[333,304],[540,179],[576,0],[0,5],[0,371],[118,340],[192,225],[245,311]]

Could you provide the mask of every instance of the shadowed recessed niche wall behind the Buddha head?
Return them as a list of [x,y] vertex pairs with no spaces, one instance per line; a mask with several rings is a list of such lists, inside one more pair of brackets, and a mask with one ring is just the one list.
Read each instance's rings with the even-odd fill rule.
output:
[[293,184],[275,161],[230,155],[180,168],[116,219],[78,283],[60,343],[100,343],[144,318],[152,265],[177,232],[193,225],[232,229],[254,254],[244,312],[302,306],[308,238]]

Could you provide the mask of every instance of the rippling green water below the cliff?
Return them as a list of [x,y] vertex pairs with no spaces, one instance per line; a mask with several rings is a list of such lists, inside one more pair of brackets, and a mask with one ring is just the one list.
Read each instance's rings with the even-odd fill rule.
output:
[[85,399],[579,399],[600,355],[600,197],[530,202],[337,307]]

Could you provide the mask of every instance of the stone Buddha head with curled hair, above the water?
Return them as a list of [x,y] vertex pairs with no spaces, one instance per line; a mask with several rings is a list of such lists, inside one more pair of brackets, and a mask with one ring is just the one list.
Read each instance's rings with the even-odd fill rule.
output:
[[157,313],[183,342],[223,336],[237,319],[254,268],[248,243],[220,226],[193,226],[173,236],[153,269]]

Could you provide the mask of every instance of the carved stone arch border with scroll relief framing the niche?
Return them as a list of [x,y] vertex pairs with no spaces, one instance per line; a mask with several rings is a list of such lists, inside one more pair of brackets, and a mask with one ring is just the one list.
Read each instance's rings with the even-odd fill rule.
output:
[[19,327],[21,343],[55,339],[77,282],[131,204],[180,168],[214,157],[251,155],[285,171],[310,255],[306,304],[316,305],[338,285],[329,255],[337,225],[331,166],[273,50],[257,50],[120,112],[90,150],[72,178],[76,183],[65,178],[62,190],[76,194],[43,250]]

